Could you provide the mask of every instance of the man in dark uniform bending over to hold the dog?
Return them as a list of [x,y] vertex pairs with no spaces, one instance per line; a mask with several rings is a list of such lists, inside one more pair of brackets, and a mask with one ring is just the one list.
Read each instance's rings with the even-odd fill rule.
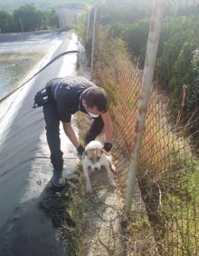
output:
[[45,88],[51,98],[48,103],[43,104],[43,114],[53,166],[52,183],[56,187],[62,187],[65,180],[62,177],[63,159],[59,129],[60,121],[65,134],[79,154],[83,153],[84,148],[71,126],[71,115],[73,113],[81,111],[90,114],[93,118],[90,130],[85,137],[86,144],[94,140],[104,127],[106,137],[104,149],[107,152],[112,147],[112,122],[105,91],[86,78],[76,76],[55,78],[46,84]]

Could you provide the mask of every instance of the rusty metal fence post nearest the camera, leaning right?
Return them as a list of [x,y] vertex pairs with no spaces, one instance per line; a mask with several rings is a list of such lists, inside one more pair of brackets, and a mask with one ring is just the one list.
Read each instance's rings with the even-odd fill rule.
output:
[[161,20],[163,17],[163,0],[155,0],[151,15],[150,30],[147,41],[147,54],[145,68],[142,78],[141,94],[137,109],[137,121],[135,128],[134,147],[131,154],[131,161],[128,172],[127,193],[126,193],[126,212],[129,213],[132,204],[133,190],[137,178],[137,167],[139,152],[141,148],[142,136],[145,129],[147,103],[149,102],[152,89],[153,75],[156,64],[156,54],[159,44],[161,31]]

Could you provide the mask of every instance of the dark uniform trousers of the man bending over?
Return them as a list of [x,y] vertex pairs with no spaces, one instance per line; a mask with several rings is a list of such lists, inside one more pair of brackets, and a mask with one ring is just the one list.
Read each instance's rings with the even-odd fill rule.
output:
[[[55,172],[62,173],[63,159],[60,140],[60,120],[54,102],[43,105],[43,114],[46,124],[46,137],[51,152],[51,162]],[[85,143],[95,140],[101,133],[104,123],[101,116],[94,118],[90,130],[86,133]]]

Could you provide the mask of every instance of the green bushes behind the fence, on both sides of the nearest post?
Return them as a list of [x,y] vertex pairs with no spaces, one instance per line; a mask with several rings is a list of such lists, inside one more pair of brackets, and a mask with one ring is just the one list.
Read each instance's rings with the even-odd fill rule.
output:
[[[120,9],[122,11],[124,15],[124,10]],[[143,68],[149,28],[147,14],[137,9],[131,22],[128,15],[118,22],[118,19],[113,20],[113,15],[108,20],[103,9],[102,13],[105,13],[102,24],[110,27],[109,35],[122,38],[128,45],[131,58],[137,58]],[[199,106],[199,15],[195,14],[195,9],[190,7],[187,13],[179,10],[178,15],[166,15],[156,64],[156,79],[170,95],[171,110],[175,113],[180,108],[185,121]]]

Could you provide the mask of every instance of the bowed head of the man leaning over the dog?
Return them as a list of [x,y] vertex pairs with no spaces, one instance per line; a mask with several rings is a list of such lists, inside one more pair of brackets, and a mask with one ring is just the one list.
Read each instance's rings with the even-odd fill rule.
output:
[[100,87],[90,88],[83,100],[83,105],[89,113],[100,114],[108,110],[107,95]]

